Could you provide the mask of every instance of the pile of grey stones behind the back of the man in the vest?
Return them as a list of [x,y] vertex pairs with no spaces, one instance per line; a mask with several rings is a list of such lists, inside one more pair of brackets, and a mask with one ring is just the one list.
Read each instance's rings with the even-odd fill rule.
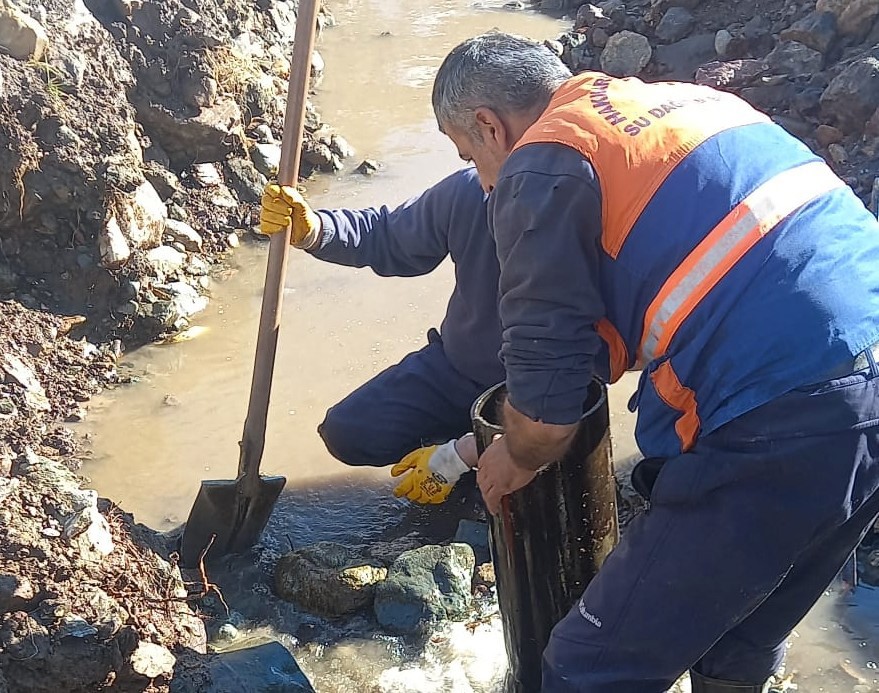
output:
[[574,71],[734,92],[879,204],[879,0],[543,0],[573,28],[547,45]]

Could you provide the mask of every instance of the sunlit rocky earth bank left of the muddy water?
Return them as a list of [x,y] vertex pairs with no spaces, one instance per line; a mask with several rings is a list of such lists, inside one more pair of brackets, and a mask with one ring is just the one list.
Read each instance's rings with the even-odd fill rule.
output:
[[[204,654],[204,576],[79,489],[64,427],[126,382],[126,348],[188,325],[251,234],[296,10],[0,0],[0,691],[259,689],[251,670],[308,690],[283,648],[238,673]],[[351,154],[310,104],[303,148],[303,177]]]

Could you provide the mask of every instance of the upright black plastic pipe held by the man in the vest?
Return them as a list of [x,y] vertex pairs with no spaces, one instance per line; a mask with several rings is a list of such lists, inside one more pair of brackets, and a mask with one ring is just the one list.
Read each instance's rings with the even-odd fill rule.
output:
[[[480,455],[503,434],[496,385],[473,405]],[[593,380],[571,448],[489,520],[509,661],[506,693],[540,691],[550,631],[579,599],[619,539],[607,388]]]

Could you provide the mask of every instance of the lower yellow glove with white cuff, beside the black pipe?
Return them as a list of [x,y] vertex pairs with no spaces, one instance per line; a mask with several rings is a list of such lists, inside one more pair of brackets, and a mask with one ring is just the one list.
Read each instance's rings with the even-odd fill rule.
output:
[[391,476],[406,474],[394,489],[416,503],[442,503],[470,467],[455,450],[455,441],[418,448],[391,467]]

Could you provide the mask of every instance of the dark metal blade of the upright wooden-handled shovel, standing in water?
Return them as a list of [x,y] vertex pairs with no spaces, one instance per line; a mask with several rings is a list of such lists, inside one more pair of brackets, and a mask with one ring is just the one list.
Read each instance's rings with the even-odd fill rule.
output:
[[238,481],[202,481],[183,529],[181,565],[197,567],[212,535],[216,538],[206,562],[256,544],[286,483],[283,476],[261,476],[256,492],[245,495]]

